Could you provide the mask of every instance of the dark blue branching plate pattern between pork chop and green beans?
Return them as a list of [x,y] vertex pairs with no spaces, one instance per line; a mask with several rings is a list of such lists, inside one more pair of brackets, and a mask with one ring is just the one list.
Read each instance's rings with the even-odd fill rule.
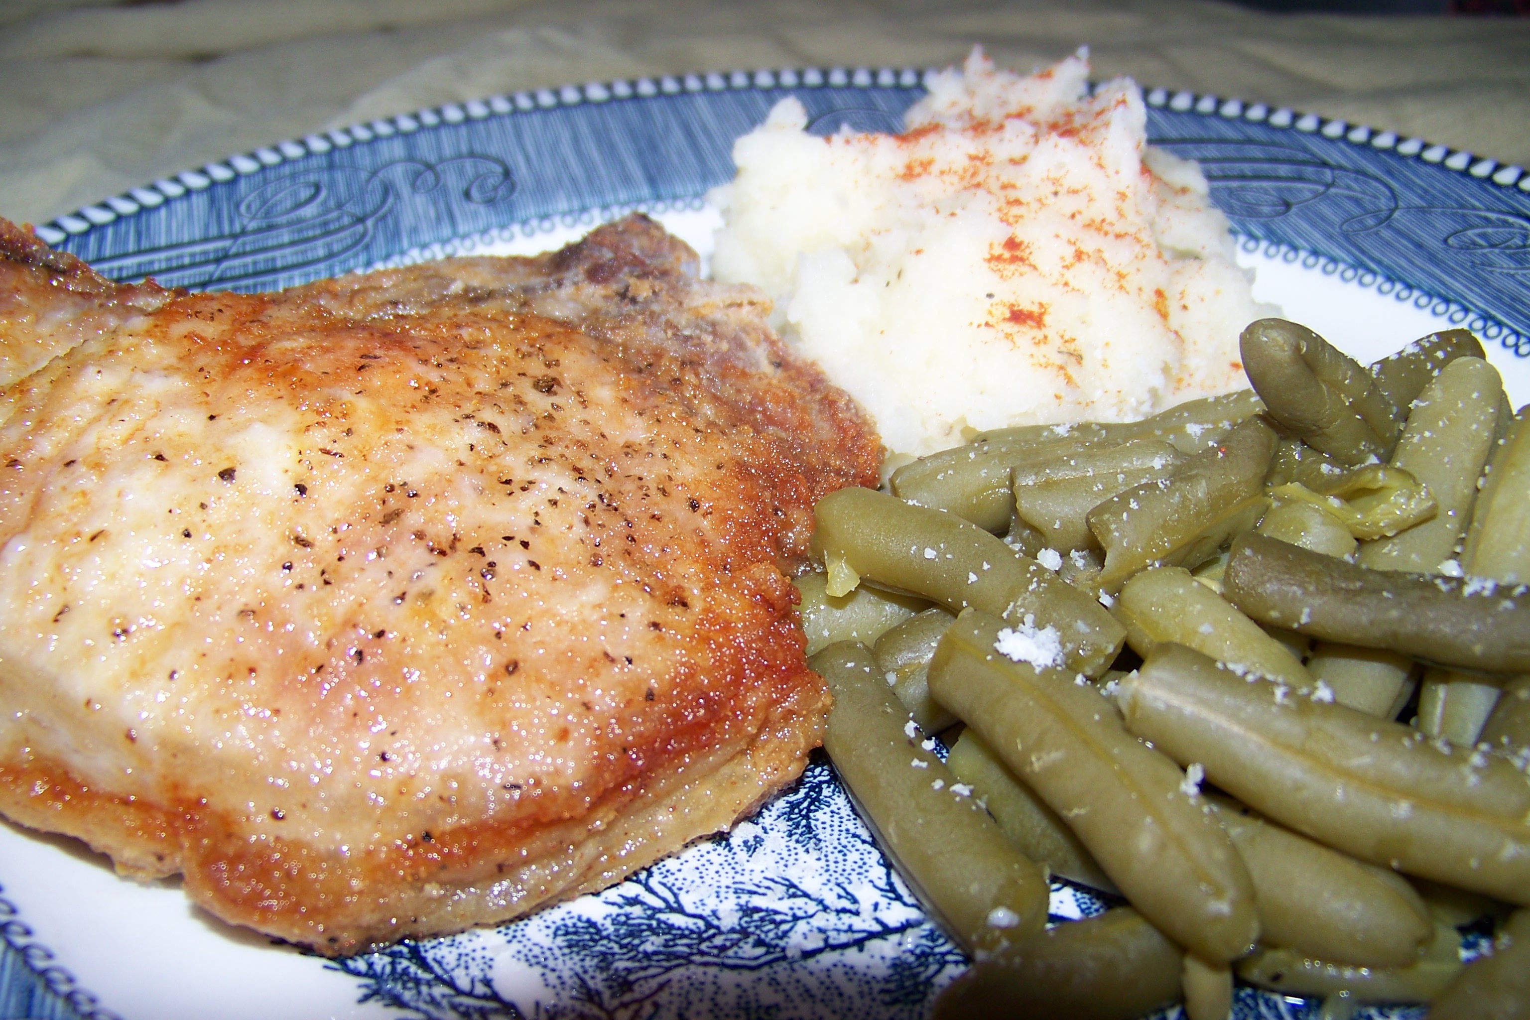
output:
[[825,762],[730,835],[603,893],[330,963],[430,1020],[915,1020],[964,965]]

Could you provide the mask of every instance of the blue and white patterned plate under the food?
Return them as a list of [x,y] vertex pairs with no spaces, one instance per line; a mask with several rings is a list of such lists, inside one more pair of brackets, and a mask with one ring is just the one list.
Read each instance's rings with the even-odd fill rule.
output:
[[[783,70],[494,96],[234,156],[37,228],[107,275],[259,291],[453,254],[534,252],[644,210],[704,255],[733,139],[785,95],[811,130],[897,130],[915,70]],[[1530,399],[1530,176],[1261,104],[1148,93],[1285,306],[1360,359],[1446,326]],[[1056,918],[1100,908],[1057,885]],[[964,966],[815,762],[731,835],[494,930],[303,956],[0,824],[0,1018],[915,1017]],[[1239,1017],[1314,1003],[1241,989]],[[1388,1015],[1418,1011],[1392,1009]]]

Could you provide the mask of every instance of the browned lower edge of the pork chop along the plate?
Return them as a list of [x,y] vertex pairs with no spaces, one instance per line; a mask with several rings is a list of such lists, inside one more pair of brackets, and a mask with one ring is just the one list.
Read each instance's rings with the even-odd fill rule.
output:
[[[509,921],[606,888],[692,840],[730,829],[802,774],[829,708],[828,696],[815,694],[777,708],[754,743],[620,791],[536,840],[520,827],[465,827],[386,847],[361,867],[337,867],[301,843],[252,852],[237,820],[191,801],[99,795],[58,763],[0,765],[0,815],[83,840],[110,855],[122,875],[184,872],[187,893],[223,921],[341,954]],[[358,899],[370,910],[346,908]]]

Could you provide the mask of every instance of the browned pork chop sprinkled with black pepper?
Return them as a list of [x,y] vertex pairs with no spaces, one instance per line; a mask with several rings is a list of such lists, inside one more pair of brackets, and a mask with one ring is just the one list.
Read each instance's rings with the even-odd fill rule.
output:
[[609,885],[819,743],[788,578],[880,443],[652,222],[265,295],[5,223],[0,277],[11,820],[340,954]]

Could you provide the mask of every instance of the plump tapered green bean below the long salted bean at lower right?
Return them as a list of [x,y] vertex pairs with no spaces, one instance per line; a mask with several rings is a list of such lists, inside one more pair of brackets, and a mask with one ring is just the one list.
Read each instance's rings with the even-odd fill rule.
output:
[[1207,797],[1253,876],[1259,940],[1356,966],[1405,966],[1434,933],[1401,876]]

